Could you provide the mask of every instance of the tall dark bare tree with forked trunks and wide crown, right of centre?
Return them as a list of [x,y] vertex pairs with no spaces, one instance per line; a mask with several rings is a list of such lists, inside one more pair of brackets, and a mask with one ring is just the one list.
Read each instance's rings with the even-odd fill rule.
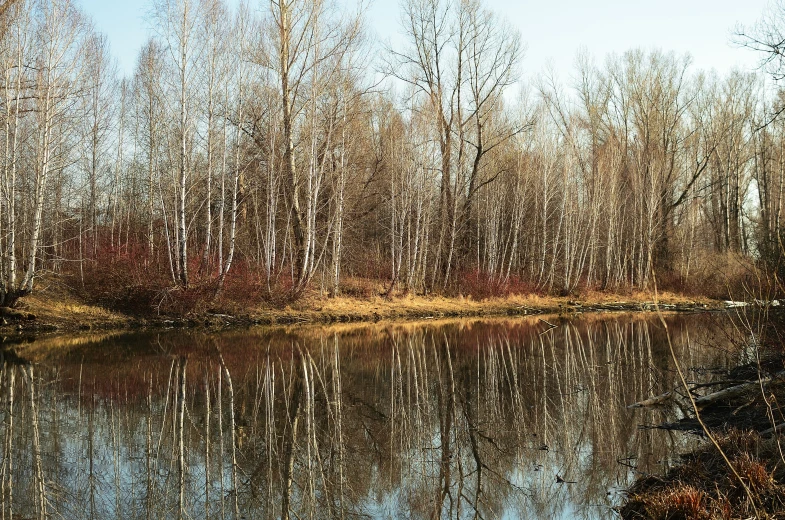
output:
[[498,172],[483,178],[483,158],[527,126],[499,112],[517,80],[522,45],[479,2],[408,1],[403,10],[408,47],[390,50],[387,71],[428,100],[441,154],[433,281],[440,275],[447,284],[476,193],[498,178]]

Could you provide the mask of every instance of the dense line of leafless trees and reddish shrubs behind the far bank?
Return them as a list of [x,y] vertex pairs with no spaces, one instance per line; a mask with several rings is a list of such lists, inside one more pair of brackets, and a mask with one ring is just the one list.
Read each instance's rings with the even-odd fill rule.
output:
[[154,0],[121,78],[74,2],[3,6],[0,304],[42,271],[113,298],[719,293],[780,256],[759,75],[632,50],[521,85],[479,0],[403,0],[391,48],[329,1]]

